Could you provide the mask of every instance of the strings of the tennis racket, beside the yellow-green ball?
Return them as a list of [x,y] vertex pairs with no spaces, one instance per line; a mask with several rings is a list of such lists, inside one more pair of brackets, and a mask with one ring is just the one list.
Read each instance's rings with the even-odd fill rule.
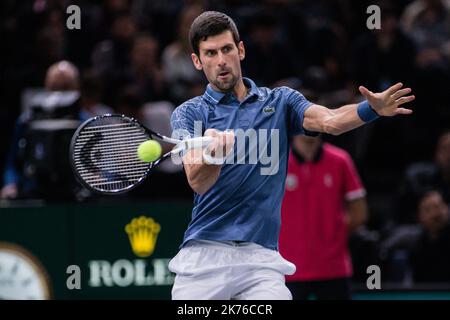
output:
[[138,146],[149,139],[139,124],[122,117],[99,118],[86,125],[74,144],[74,165],[81,179],[103,192],[139,182],[149,164],[138,159]]

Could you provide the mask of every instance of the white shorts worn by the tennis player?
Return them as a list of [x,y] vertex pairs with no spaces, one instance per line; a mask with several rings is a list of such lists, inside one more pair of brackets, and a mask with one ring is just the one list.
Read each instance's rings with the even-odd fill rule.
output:
[[191,240],[169,263],[173,300],[291,300],[295,265],[278,251],[233,241]]

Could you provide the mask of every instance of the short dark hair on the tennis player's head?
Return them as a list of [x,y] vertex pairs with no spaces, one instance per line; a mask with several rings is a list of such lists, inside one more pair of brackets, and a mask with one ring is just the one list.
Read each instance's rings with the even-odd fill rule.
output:
[[189,41],[195,54],[199,54],[198,44],[200,40],[206,40],[209,36],[215,36],[230,30],[236,45],[239,43],[239,32],[233,19],[224,13],[206,11],[195,18],[189,30]]

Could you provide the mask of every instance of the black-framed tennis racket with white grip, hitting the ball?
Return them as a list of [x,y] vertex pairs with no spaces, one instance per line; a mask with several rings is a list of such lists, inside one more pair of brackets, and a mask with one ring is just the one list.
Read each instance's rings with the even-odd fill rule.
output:
[[[154,162],[141,161],[139,145],[158,139],[175,147]],[[106,114],[86,120],[72,137],[70,162],[86,188],[101,194],[118,194],[141,184],[164,160],[182,151],[207,146],[213,138],[178,140],[156,133],[133,118]]]

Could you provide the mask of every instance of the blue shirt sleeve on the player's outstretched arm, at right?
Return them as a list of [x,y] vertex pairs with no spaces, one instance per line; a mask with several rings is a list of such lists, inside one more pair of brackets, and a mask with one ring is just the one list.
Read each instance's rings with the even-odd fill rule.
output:
[[303,128],[303,118],[306,109],[313,105],[297,90],[283,87],[287,94],[287,106],[288,106],[288,125],[291,135],[309,135],[317,136],[318,132],[307,131]]

